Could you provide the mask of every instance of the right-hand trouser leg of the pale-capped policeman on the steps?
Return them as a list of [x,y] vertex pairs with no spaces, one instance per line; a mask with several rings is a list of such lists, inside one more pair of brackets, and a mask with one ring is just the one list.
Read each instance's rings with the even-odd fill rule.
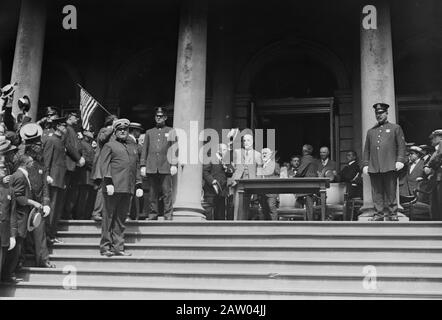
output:
[[112,250],[115,252],[124,251],[124,222],[129,212],[132,195],[129,193],[120,193],[116,195],[115,210],[112,216],[110,226],[110,236],[112,241]]

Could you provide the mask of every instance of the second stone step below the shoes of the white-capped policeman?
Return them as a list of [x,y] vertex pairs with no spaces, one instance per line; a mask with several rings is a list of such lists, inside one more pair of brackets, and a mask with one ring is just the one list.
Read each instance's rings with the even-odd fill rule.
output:
[[[263,273],[263,272],[226,272],[212,271],[135,271],[119,269],[85,269],[75,272],[63,272],[63,269],[25,268],[19,274],[29,282],[44,282],[50,284],[63,284],[64,281],[73,279],[77,286],[84,285],[148,285],[158,287],[191,287],[195,289],[226,289],[245,288],[249,290],[290,290],[295,288],[310,289],[339,289],[361,290],[364,289],[363,274],[324,273],[312,275],[310,273]],[[67,281],[66,283],[72,284]],[[368,290],[368,289],[366,289]],[[373,292],[388,291],[427,291],[442,292],[441,276],[415,276],[412,274],[394,274],[390,276],[377,275]]]

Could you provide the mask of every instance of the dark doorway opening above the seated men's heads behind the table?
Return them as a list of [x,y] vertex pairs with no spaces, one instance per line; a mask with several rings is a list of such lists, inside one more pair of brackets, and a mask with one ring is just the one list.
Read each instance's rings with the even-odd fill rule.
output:
[[302,146],[311,144],[313,155],[319,156],[319,148],[330,148],[330,114],[300,113],[275,114],[261,117],[262,128],[275,129],[276,150],[279,163],[289,162],[292,155],[301,155]]

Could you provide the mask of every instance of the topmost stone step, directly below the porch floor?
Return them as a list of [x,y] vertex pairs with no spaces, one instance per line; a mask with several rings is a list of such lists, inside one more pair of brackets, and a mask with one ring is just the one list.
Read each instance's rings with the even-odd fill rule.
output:
[[[60,231],[101,230],[101,223],[92,220],[61,221]],[[357,222],[357,221],[129,221],[126,232],[134,233],[292,233],[292,234],[442,234],[442,222]]]

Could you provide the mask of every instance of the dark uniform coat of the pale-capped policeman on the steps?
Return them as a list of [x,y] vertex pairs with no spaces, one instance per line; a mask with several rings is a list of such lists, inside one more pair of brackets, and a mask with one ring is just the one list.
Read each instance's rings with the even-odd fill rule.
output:
[[112,140],[101,150],[102,175],[106,185],[112,184],[115,193],[135,193],[141,185],[138,150],[134,143]]

